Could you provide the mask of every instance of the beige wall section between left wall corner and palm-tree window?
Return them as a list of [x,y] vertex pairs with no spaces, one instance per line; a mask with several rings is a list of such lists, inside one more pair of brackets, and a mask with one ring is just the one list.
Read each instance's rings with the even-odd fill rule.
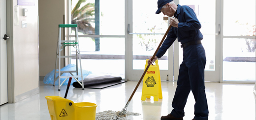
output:
[[[64,21],[65,2],[66,0],[39,0],[40,76],[55,69],[58,26]],[[62,60],[61,68],[63,65]]]

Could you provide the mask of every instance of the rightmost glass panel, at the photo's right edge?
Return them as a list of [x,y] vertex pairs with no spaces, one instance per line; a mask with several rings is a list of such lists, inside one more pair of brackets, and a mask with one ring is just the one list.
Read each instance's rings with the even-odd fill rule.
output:
[[256,2],[223,1],[223,82],[256,80]]

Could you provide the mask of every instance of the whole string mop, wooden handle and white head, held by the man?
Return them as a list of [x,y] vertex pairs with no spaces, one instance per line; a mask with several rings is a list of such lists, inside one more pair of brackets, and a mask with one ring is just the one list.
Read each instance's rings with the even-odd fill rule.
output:
[[[164,36],[163,36],[163,38],[162,38],[162,40],[161,40],[157,50],[155,51],[154,55],[152,56],[152,58],[151,58],[152,61],[155,58],[155,56],[156,56],[160,46],[162,45],[162,43],[163,43],[163,41],[164,41],[164,39],[165,39],[165,37],[168,34],[170,29],[171,29],[171,25],[169,25],[169,27],[166,30],[166,32],[165,32],[165,34],[164,34]],[[109,111],[104,111],[104,112],[96,113],[96,120],[128,120],[126,117],[129,116],[129,115],[135,115],[135,116],[140,115],[139,113],[128,112],[127,111],[127,107],[128,107],[128,105],[130,103],[130,100],[131,100],[132,96],[135,94],[137,88],[139,87],[139,84],[141,83],[144,75],[148,71],[149,66],[150,65],[148,65],[147,68],[145,69],[145,71],[143,72],[143,74],[142,74],[142,76],[141,76],[137,86],[133,90],[133,92],[132,92],[128,102],[126,103],[126,106],[121,111],[118,111],[118,112],[114,112],[114,111],[109,110]]]

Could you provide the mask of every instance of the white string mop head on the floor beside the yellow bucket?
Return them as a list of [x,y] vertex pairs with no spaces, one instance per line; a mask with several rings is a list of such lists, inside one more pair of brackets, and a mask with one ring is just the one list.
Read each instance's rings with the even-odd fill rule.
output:
[[126,112],[125,115],[118,115],[119,112],[116,111],[104,111],[104,112],[98,112],[96,113],[96,120],[128,120],[126,117],[127,116],[139,116],[139,113],[132,113],[132,112]]

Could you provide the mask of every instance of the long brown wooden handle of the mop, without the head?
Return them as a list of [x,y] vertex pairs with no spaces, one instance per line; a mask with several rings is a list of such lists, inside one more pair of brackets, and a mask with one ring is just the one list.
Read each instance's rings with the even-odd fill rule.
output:
[[[170,31],[170,29],[171,29],[171,25],[170,25],[170,26],[168,27],[168,29],[166,30],[166,32],[165,32],[164,36],[162,37],[162,40],[161,40],[161,42],[160,42],[160,44],[159,44],[157,50],[155,51],[154,55],[152,56],[151,60],[153,60],[153,59],[155,58],[155,56],[157,55],[158,50],[159,50],[159,48],[161,47],[161,45],[162,45],[162,43],[163,43],[163,41],[164,41],[166,35],[167,35],[168,32]],[[132,96],[135,94],[137,88],[139,87],[139,84],[140,84],[141,80],[143,79],[144,75],[145,75],[146,72],[148,71],[149,66],[150,66],[150,65],[147,66],[147,68],[146,68],[145,71],[143,72],[142,76],[140,77],[140,80],[139,80],[137,86],[135,87],[134,91],[132,92],[132,94],[131,94],[131,96],[130,96],[128,102],[131,100]],[[127,102],[127,104],[128,104],[128,102]]]

